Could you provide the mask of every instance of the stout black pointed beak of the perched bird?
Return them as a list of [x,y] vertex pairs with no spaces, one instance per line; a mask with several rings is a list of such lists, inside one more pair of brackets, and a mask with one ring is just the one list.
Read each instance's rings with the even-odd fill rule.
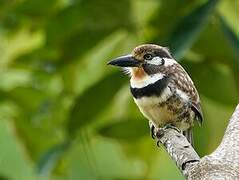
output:
[[113,59],[107,64],[120,67],[138,67],[140,66],[140,61],[136,60],[132,55],[126,55]]

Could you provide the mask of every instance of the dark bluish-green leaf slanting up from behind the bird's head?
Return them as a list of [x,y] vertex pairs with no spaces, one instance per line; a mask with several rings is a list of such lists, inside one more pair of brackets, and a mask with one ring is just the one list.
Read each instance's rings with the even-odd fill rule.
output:
[[199,33],[207,23],[218,0],[208,0],[207,3],[193,10],[176,26],[169,38],[169,47],[176,59],[181,59],[192,46]]

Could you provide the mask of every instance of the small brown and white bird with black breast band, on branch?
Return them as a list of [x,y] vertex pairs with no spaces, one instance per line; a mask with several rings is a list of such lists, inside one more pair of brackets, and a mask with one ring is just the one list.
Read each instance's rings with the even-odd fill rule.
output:
[[130,91],[151,136],[176,128],[193,145],[194,122],[203,121],[200,97],[193,81],[167,47],[142,44],[108,62],[130,76]]

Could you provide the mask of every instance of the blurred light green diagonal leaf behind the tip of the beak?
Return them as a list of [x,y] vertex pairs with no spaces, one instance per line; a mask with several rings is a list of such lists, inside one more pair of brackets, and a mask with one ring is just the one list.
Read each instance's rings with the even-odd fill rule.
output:
[[72,83],[75,86],[75,92],[80,94],[83,90],[105,77],[109,73],[109,70],[114,69],[106,66],[107,62],[110,57],[112,58],[124,53],[123,47],[129,41],[130,38],[125,32],[116,31],[109,34],[107,38],[95,44],[94,48],[88,50],[83,57],[79,58],[78,63],[72,64],[69,71],[75,71],[74,80],[73,82],[67,82],[69,80],[67,78],[65,83]]

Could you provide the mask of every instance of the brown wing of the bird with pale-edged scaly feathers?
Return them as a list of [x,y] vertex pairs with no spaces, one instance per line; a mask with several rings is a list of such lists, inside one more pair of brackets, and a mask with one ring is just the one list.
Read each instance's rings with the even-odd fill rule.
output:
[[196,120],[199,122],[199,124],[201,124],[203,121],[203,113],[199,95],[188,73],[180,64],[173,64],[168,73],[168,75],[171,77],[172,84],[175,84],[178,89],[186,93],[190,98],[192,103],[191,108],[196,115]]

